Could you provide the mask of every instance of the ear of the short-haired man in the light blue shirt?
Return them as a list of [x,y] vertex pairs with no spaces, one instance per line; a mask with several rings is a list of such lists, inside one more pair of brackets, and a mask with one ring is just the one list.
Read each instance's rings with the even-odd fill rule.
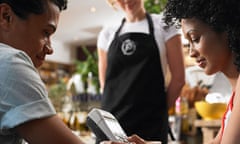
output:
[[13,18],[13,11],[11,7],[6,4],[0,4],[0,26],[4,29],[8,29]]

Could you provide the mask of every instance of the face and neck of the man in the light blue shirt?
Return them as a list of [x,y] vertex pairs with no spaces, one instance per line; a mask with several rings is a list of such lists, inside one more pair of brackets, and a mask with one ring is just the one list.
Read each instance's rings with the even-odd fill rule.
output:
[[7,44],[26,52],[35,67],[41,66],[45,56],[53,53],[50,36],[56,31],[59,14],[58,7],[48,2],[44,14],[31,14],[27,20],[14,16]]

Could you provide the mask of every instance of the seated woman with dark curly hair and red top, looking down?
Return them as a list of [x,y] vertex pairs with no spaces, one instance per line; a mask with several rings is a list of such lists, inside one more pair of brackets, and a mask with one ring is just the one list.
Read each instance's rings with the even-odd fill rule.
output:
[[[240,1],[168,0],[164,12],[168,26],[182,28],[190,56],[206,74],[221,71],[232,85],[232,96],[222,126],[210,144],[240,141]],[[129,141],[146,143],[137,136]]]

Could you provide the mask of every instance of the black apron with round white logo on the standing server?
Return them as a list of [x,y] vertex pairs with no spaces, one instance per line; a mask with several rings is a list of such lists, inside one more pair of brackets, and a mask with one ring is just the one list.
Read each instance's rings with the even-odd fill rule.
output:
[[167,143],[168,110],[159,49],[149,14],[149,34],[115,33],[108,51],[102,108],[119,120],[127,135]]

